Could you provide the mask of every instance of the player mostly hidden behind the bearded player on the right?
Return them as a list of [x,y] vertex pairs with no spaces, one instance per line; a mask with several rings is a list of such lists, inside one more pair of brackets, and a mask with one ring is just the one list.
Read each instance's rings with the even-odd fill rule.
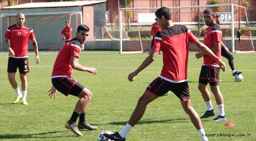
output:
[[[216,23],[220,24],[221,23],[221,16],[216,14]],[[223,42],[221,42],[221,56],[225,57],[228,59],[228,64],[232,70],[232,75],[236,76],[237,74],[241,74],[242,72],[236,71],[235,66],[234,66],[234,57],[228,50],[228,48],[224,45]]]

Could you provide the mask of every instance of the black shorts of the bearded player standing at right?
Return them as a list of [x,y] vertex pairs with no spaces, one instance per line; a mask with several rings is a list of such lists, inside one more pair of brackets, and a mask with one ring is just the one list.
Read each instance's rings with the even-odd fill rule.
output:
[[202,65],[199,75],[199,83],[205,85],[210,83],[211,86],[219,85],[219,71],[220,67]]

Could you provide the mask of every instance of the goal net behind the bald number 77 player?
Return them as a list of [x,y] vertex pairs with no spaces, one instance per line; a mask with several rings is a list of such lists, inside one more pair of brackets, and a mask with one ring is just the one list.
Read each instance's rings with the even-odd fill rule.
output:
[[[72,38],[76,36],[76,29],[82,23],[81,12],[74,13],[24,13],[25,25],[33,29],[40,51],[57,51],[64,44],[61,30],[65,26],[65,21],[69,21],[72,27]],[[6,14],[0,16],[0,50],[6,51],[3,40],[6,29],[16,24],[16,14]],[[29,50],[33,51],[31,42]]]

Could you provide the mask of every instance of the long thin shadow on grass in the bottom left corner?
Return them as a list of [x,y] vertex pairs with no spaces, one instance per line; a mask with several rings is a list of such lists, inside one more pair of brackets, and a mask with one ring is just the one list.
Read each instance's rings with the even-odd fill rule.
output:
[[[50,134],[56,134],[63,131],[54,131],[54,132],[43,132],[43,133],[35,133],[35,134],[6,134],[0,135],[0,139],[47,139],[47,138],[58,138],[63,136],[52,136]],[[47,135],[47,137],[43,137],[42,135]]]

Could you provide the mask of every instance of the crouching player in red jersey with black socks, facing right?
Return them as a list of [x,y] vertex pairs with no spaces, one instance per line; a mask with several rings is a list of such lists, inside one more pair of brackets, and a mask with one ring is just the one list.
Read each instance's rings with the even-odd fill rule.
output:
[[[97,69],[84,67],[78,63],[79,53],[82,50],[81,44],[86,42],[88,35],[89,27],[87,25],[79,25],[76,31],[76,38],[73,38],[69,42],[65,43],[63,47],[61,47],[52,71],[53,86],[52,89],[48,91],[50,92],[50,98],[53,95],[54,98],[56,98],[57,90],[65,96],[71,94],[79,98],[70,120],[65,123],[65,127],[70,129],[78,136],[83,136],[79,129],[94,130],[98,128],[96,126],[89,125],[85,121],[87,105],[93,94],[81,83],[71,77],[73,69],[78,71],[86,71],[94,75],[97,73]],[[76,120],[78,117],[79,123],[77,127]]]

